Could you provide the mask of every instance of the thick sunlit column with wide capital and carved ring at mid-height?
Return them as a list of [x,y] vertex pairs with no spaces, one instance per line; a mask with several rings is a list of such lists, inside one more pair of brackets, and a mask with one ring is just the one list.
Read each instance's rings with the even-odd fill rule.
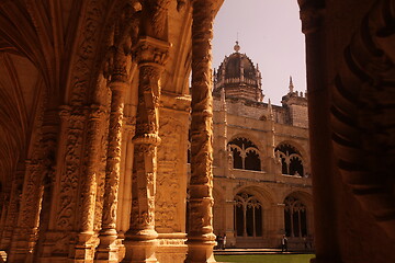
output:
[[133,138],[134,164],[132,178],[131,228],[125,233],[126,254],[123,262],[157,262],[155,255],[155,191],[157,146],[160,142],[159,96],[160,76],[169,44],[143,37],[136,47],[139,69],[136,133]]

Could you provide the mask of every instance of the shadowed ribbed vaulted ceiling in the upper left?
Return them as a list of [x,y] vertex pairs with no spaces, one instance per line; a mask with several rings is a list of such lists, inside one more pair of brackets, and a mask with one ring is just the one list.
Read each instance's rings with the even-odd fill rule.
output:
[[36,112],[47,94],[61,103],[84,1],[0,2],[0,179],[10,186],[18,162],[29,158]]

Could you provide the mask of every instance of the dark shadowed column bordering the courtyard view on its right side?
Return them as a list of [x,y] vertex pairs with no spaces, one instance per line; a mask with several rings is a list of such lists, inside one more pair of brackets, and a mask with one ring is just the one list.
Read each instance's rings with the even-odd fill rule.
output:
[[[337,194],[334,184],[331,145],[330,94],[327,85],[326,32],[324,31],[324,1],[300,1],[302,31],[306,39],[307,95],[316,259],[312,262],[340,262],[337,221]],[[325,150],[323,150],[325,149]]]

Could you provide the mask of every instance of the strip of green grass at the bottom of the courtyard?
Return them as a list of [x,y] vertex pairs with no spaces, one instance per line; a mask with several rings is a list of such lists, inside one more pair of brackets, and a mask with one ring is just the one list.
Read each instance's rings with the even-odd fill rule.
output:
[[308,263],[314,256],[314,254],[215,255],[215,260],[242,263]]

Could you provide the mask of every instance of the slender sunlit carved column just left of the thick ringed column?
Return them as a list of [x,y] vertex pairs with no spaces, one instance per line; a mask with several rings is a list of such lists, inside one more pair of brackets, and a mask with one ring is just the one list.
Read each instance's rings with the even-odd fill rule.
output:
[[119,50],[115,55],[111,76],[111,113],[109,147],[105,167],[105,186],[100,245],[94,262],[119,262],[116,244],[116,210],[121,175],[121,142],[124,116],[124,92],[127,88],[126,55]]

